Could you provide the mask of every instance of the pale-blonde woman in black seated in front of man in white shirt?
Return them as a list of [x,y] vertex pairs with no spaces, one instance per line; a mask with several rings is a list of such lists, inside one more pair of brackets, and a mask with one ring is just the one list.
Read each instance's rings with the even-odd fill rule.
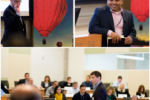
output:
[[128,89],[125,89],[124,83],[120,83],[118,89],[116,90],[117,97],[119,94],[127,94],[127,97],[130,97]]

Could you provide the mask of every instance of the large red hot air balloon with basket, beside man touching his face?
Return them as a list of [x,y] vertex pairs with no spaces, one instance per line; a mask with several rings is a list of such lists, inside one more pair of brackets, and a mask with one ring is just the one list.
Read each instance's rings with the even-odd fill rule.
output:
[[60,24],[66,12],[66,0],[34,0],[33,25],[44,37],[43,44],[46,44],[45,37]]

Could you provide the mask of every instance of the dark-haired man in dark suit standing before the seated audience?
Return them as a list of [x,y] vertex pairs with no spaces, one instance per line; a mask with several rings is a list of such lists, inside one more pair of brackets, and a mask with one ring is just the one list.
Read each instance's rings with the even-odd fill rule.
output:
[[94,71],[91,74],[91,82],[95,86],[93,93],[94,100],[107,100],[107,92],[104,84],[101,82],[101,73]]

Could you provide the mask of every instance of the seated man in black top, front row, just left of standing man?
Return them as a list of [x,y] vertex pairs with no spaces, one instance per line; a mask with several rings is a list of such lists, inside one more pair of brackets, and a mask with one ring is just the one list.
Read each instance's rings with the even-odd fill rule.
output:
[[80,85],[80,92],[76,93],[72,100],[91,100],[90,95],[85,92],[86,86]]

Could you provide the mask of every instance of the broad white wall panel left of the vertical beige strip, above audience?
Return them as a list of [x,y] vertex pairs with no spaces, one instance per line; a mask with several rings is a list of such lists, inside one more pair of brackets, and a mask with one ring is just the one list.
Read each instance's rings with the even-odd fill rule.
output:
[[31,77],[34,85],[40,87],[44,77],[49,75],[51,80],[62,81],[64,77],[64,48],[32,48]]

